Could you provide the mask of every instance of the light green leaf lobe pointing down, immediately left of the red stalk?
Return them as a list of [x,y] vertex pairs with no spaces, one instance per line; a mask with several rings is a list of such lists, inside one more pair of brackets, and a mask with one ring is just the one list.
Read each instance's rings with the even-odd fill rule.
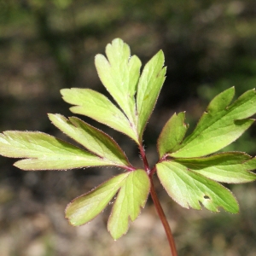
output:
[[108,230],[114,240],[125,235],[129,228],[129,218],[134,221],[138,217],[141,207],[146,204],[149,189],[150,181],[144,170],[130,172],[119,190],[108,219]]

